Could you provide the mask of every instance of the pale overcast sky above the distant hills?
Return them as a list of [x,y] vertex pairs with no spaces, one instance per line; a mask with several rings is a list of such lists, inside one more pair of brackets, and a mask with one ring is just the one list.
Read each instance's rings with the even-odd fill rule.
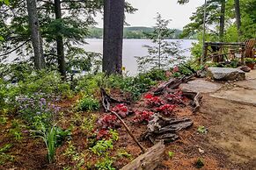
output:
[[[204,3],[204,0],[190,0],[185,5],[177,4],[177,0],[126,0],[132,4],[138,11],[135,14],[128,14],[126,21],[130,26],[153,26],[156,21],[154,18],[159,12],[163,18],[172,19],[170,28],[182,29],[184,25],[189,23],[189,17],[192,12],[196,11],[196,7]],[[99,22],[97,27],[102,27],[102,15],[96,20]]]

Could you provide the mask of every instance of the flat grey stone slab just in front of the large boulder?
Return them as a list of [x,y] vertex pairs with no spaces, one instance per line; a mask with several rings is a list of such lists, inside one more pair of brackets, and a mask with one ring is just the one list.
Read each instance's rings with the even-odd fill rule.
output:
[[179,88],[186,89],[193,92],[213,93],[213,92],[216,92],[218,89],[221,89],[222,84],[197,79],[194,81],[188,81],[187,83],[180,84]]

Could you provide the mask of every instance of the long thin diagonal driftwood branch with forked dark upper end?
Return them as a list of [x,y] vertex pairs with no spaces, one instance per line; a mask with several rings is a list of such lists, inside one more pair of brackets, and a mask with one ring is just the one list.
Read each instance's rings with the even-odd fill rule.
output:
[[111,114],[113,114],[114,116],[116,116],[120,121],[121,124],[123,124],[123,126],[125,127],[126,131],[128,131],[128,134],[130,135],[131,138],[134,139],[136,145],[138,145],[142,152],[146,152],[146,149],[143,147],[143,145],[141,145],[139,143],[139,141],[135,138],[135,136],[133,135],[133,133],[130,131],[130,129],[128,128],[128,125],[122,120],[122,118],[114,111],[110,110],[110,103],[121,103],[120,101],[113,99],[111,96],[106,94],[106,90],[105,89],[100,89],[101,91],[101,96],[102,96],[102,104],[104,109],[106,110],[106,112],[110,112]]

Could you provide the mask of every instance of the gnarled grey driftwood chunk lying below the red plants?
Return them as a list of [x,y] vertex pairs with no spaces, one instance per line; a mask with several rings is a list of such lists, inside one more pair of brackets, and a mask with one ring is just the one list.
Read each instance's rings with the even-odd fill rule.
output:
[[192,124],[193,121],[187,117],[170,118],[154,114],[142,138],[150,139],[153,144],[156,144],[158,141],[169,143],[179,138],[178,131],[187,129]]

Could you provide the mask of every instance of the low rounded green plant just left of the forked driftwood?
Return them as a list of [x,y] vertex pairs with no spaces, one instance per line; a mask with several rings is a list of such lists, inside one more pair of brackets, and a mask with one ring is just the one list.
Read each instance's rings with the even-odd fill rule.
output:
[[84,96],[77,104],[77,110],[93,111],[99,110],[99,101],[91,96]]

